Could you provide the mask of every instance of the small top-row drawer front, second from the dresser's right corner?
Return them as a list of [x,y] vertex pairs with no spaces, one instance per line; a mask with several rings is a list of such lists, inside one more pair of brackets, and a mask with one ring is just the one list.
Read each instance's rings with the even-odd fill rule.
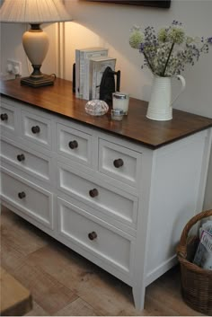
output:
[[91,165],[92,136],[57,124],[57,152],[85,165]]

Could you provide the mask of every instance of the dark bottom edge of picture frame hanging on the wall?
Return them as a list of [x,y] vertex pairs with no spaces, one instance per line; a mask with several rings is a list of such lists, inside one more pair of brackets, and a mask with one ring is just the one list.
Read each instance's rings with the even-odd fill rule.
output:
[[131,5],[145,5],[158,8],[170,8],[171,0],[87,0],[92,2],[102,2],[107,4],[131,4]]

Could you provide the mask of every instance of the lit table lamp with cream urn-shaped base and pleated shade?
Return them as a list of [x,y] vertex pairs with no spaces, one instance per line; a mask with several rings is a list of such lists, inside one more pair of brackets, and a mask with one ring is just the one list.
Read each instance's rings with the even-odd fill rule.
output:
[[62,0],[4,0],[0,8],[0,22],[31,24],[31,29],[22,36],[22,45],[33,72],[29,77],[23,77],[21,84],[32,87],[54,84],[54,76],[40,72],[49,48],[48,35],[42,31],[40,24],[71,20]]

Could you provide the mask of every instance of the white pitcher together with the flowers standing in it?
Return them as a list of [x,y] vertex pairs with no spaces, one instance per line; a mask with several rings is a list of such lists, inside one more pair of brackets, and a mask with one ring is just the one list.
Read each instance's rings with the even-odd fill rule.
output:
[[[155,120],[172,119],[172,103],[185,88],[185,79],[181,72],[186,64],[194,65],[202,53],[208,53],[212,37],[192,38],[185,34],[181,22],[173,21],[172,25],[162,28],[157,33],[152,26],[144,32],[134,26],[129,37],[132,48],[139,49],[145,57],[144,65],[154,74],[152,93],[146,117]],[[181,80],[181,92],[172,100],[171,78]]]

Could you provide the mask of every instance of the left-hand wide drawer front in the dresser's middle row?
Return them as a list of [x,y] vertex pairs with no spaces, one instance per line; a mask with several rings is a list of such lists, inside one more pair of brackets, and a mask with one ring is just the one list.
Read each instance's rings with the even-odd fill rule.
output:
[[28,152],[13,142],[1,141],[1,158],[6,163],[12,163],[22,171],[29,172],[41,180],[49,181],[49,158],[43,154]]

